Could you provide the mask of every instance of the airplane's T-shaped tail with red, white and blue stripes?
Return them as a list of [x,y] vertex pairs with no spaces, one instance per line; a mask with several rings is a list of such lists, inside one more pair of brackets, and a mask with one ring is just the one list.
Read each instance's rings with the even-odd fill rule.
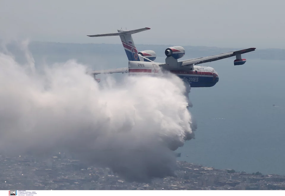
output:
[[[104,37],[104,36],[120,36],[124,49],[126,51],[126,55],[129,61],[144,61],[145,57],[138,54],[137,48],[134,45],[134,40],[132,38],[132,34],[149,30],[150,28],[145,27],[142,29],[135,30],[118,30],[118,33],[106,33],[106,34],[97,34],[97,35],[87,35],[89,37]],[[147,61],[149,61],[147,59]]]

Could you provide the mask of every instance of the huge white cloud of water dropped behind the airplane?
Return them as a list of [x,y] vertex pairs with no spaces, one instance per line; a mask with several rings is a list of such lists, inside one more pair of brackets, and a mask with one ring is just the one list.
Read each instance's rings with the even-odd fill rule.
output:
[[173,175],[172,150],[194,138],[196,129],[178,77],[125,77],[121,83],[107,78],[99,85],[74,60],[36,71],[23,49],[24,65],[0,53],[2,152],[64,149],[126,180]]

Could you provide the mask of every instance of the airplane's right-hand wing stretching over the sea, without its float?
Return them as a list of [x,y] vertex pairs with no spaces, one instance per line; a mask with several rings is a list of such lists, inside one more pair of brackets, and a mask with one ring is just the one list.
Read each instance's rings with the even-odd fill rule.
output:
[[197,58],[197,59],[190,59],[190,60],[184,60],[184,61],[179,61],[182,62],[182,66],[187,66],[187,65],[197,65],[197,64],[201,64],[201,63],[208,63],[208,62],[212,62],[212,61],[217,61],[217,60],[221,60],[221,59],[225,59],[225,58],[229,58],[232,56],[236,56],[236,55],[241,55],[244,53],[248,53],[251,51],[254,51],[256,48],[247,48],[247,49],[243,49],[243,50],[237,50],[234,52],[227,52],[227,53],[222,53],[222,54],[216,54],[216,55],[212,55],[212,56],[206,56],[206,57],[202,57],[202,58]]

